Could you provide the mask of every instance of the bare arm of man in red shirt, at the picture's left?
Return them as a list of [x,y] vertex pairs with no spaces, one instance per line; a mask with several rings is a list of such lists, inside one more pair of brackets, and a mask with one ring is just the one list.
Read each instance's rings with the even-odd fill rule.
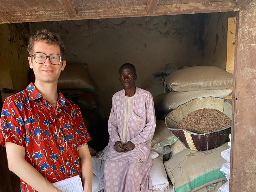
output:
[[39,192],[61,192],[24,159],[23,146],[6,142],[5,148],[9,169],[23,181]]

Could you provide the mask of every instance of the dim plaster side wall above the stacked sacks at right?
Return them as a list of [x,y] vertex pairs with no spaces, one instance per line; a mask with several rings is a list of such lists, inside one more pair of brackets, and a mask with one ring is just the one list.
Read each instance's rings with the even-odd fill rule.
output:
[[235,16],[235,12],[206,14],[203,35],[205,42],[204,65],[226,69],[228,17],[233,16]]

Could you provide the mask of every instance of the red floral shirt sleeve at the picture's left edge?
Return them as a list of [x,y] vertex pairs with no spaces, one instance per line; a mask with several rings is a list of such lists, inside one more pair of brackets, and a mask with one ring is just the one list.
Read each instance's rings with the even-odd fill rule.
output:
[[0,144],[15,143],[25,147],[25,123],[23,104],[18,97],[10,96],[4,101],[0,119]]

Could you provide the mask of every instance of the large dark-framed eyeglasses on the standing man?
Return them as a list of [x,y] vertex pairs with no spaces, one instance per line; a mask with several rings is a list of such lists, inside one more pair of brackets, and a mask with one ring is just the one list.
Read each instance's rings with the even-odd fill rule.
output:
[[53,65],[59,65],[62,60],[59,54],[51,54],[49,56],[46,56],[45,53],[40,52],[36,52],[34,55],[30,55],[29,57],[34,57],[35,62],[39,64],[44,63],[47,58],[49,58],[51,64]]

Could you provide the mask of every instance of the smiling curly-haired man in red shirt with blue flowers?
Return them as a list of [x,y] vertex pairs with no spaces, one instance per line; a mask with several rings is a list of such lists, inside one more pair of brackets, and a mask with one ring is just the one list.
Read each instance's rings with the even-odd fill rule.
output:
[[58,34],[37,31],[28,45],[35,82],[3,105],[0,144],[22,192],[60,192],[52,183],[76,175],[82,177],[84,192],[92,190],[91,138],[79,107],[57,90],[66,66],[64,49]]

